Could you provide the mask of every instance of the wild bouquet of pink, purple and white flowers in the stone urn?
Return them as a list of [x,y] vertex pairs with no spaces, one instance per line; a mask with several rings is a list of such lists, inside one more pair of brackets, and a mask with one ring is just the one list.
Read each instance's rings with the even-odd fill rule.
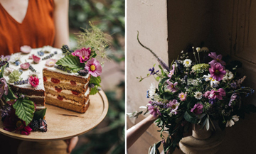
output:
[[[146,94],[150,101],[147,106],[142,106],[144,111],[136,111],[128,116],[150,113],[157,118],[155,123],[163,139],[151,145],[150,153],[159,153],[161,143],[165,153],[173,153],[191,123],[214,130],[216,126],[213,121],[216,121],[224,129],[233,126],[239,118],[243,119],[245,113],[256,111],[254,105],[242,103],[243,97],[255,91],[242,87],[245,76],[238,75],[240,62],[226,63],[222,55],[210,53],[206,47],[192,47],[191,53],[181,51],[181,56],[172,62],[170,69],[152,50],[146,49],[160,64],[160,71],[154,65],[146,77],[154,76],[159,84],[151,83]],[[142,81],[146,77],[137,78]]]

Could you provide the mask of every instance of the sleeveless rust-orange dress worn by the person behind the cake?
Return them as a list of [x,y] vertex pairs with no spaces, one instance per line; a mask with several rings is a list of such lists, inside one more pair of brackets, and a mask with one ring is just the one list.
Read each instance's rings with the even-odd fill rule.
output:
[[0,4],[0,55],[18,53],[23,45],[53,46],[53,9],[53,0],[28,0],[26,16],[18,23]]

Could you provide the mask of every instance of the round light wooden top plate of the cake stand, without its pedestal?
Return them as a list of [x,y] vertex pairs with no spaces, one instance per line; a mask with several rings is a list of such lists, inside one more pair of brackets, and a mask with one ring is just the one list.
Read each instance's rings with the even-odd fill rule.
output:
[[46,122],[48,123],[48,131],[46,133],[36,131],[25,136],[5,131],[2,121],[0,121],[0,133],[23,141],[65,140],[80,136],[95,128],[107,115],[108,107],[107,97],[103,91],[100,91],[95,95],[90,95],[90,106],[85,114],[46,104]]

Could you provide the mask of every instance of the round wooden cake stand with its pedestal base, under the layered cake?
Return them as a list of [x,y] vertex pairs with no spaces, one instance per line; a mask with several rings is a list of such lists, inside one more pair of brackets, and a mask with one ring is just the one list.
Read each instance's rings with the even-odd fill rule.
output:
[[[47,103],[47,102],[46,102]],[[29,136],[5,131],[0,121],[0,133],[11,138],[23,140],[18,154],[65,154],[67,145],[63,140],[80,136],[95,128],[107,115],[109,104],[103,91],[90,95],[90,106],[85,114],[68,111],[46,104],[48,131],[31,132]]]

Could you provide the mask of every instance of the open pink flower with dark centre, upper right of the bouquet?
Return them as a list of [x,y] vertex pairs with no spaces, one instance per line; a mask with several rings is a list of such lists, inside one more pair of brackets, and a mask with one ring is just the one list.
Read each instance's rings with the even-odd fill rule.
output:
[[223,79],[224,75],[226,74],[223,65],[218,62],[210,66],[209,72],[210,77],[212,77],[216,81],[220,81],[221,79]]

